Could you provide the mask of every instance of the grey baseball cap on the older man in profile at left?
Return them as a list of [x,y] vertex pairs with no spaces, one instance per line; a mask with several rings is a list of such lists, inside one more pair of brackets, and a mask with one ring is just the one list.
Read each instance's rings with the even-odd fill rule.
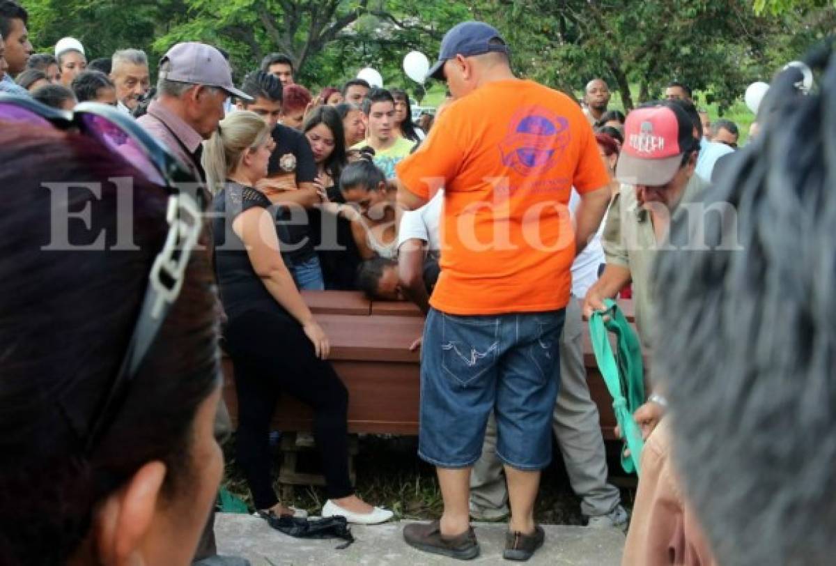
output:
[[227,59],[212,45],[206,43],[177,43],[160,59],[169,62],[169,69],[160,72],[162,79],[176,83],[205,84],[225,90],[239,99],[252,102],[252,96],[235,88],[232,70]]

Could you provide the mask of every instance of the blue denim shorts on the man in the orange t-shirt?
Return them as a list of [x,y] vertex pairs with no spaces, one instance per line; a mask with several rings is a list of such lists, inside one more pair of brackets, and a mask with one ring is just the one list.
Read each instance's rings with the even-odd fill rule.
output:
[[418,455],[442,468],[482,456],[497,416],[497,456],[522,471],[552,460],[565,310],[455,316],[431,309],[421,347]]

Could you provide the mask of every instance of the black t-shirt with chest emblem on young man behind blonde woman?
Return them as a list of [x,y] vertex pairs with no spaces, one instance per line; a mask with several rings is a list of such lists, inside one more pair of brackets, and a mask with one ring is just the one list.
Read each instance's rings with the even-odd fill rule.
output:
[[[299,183],[314,182],[317,167],[316,161],[314,161],[314,151],[311,150],[308,138],[297,130],[293,130],[293,128],[277,124],[273,129],[273,141],[276,142],[276,149],[273,150],[273,155],[270,156],[268,176],[295,172],[297,185]],[[293,156],[293,159],[290,159],[288,156]],[[286,167],[282,166],[283,162]],[[290,216],[287,209],[283,208],[281,210],[284,212],[279,214],[277,221],[288,222]],[[304,246],[299,247],[294,252],[288,252],[288,257],[291,260],[300,263],[314,257],[314,245],[310,237],[309,224],[288,224],[285,233],[288,234],[288,241],[283,241],[283,243],[288,246],[298,247],[300,242],[304,242],[307,239]]]

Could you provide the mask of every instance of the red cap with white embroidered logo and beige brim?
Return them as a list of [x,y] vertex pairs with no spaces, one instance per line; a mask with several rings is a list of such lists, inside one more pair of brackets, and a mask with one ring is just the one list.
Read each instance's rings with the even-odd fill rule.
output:
[[627,185],[666,185],[679,171],[683,154],[698,146],[694,125],[679,105],[633,110],[624,123],[615,178]]

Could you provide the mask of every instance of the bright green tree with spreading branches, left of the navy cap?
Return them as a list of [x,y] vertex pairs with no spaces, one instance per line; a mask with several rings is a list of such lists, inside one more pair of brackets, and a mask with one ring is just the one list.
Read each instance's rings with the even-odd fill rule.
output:
[[451,21],[467,15],[442,0],[428,0],[420,20],[404,0],[186,0],[186,7],[156,39],[158,53],[177,41],[205,41],[227,48],[245,72],[279,51],[293,60],[299,82],[316,87],[366,65],[400,79],[397,69],[410,49],[437,48]]

